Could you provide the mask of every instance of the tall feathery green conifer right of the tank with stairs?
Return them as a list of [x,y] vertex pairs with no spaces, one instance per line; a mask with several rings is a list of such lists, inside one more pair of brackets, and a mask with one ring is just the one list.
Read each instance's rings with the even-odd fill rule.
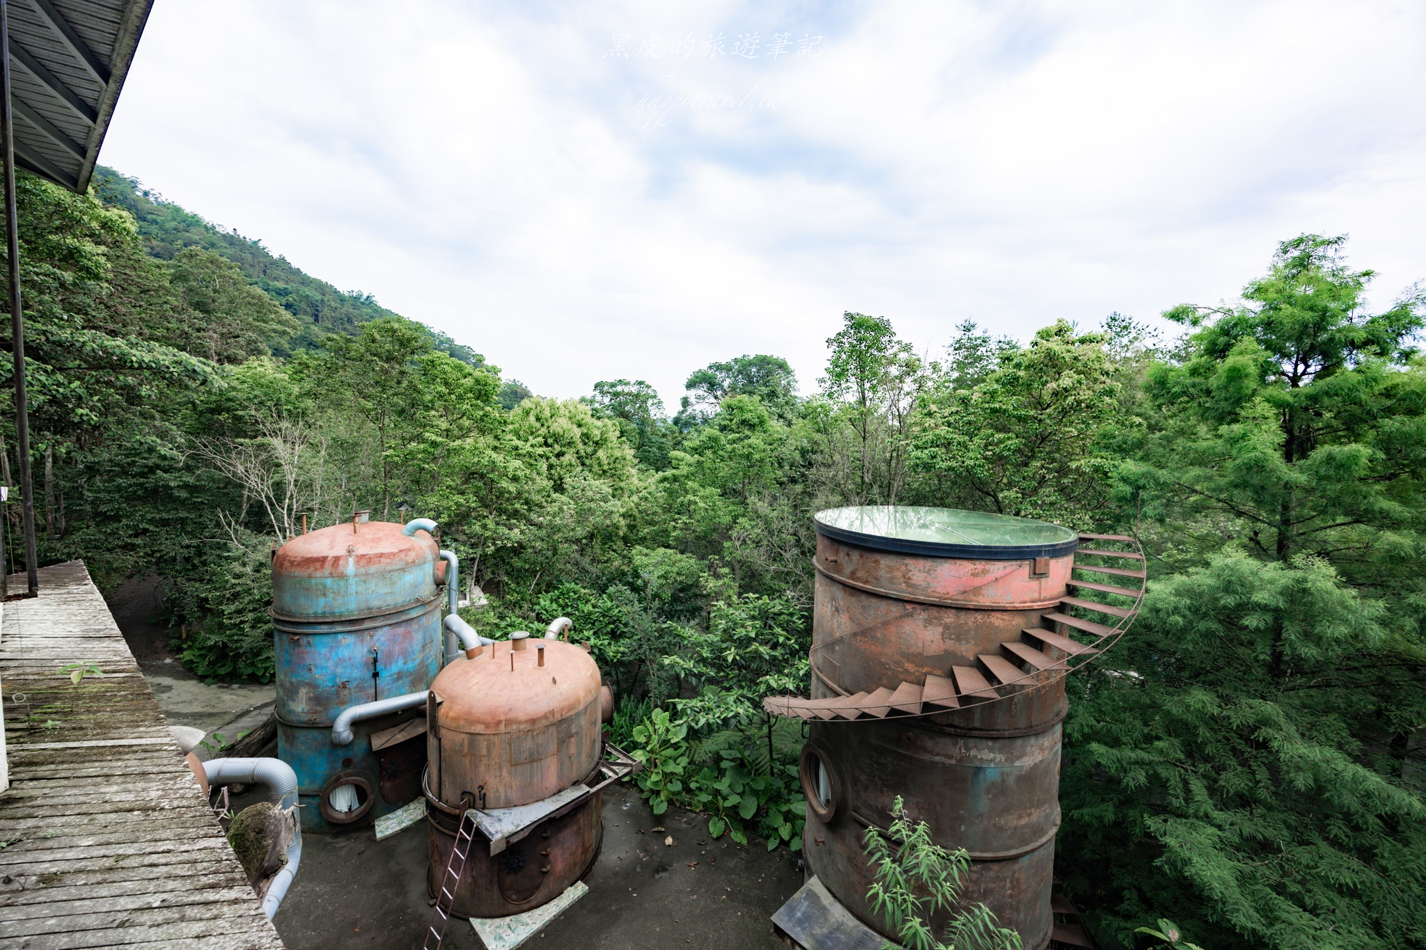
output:
[[1171,310],[1196,332],[1149,375],[1122,494],[1198,555],[1075,684],[1061,786],[1067,883],[1124,940],[1426,946],[1420,301],[1363,313],[1340,246]]

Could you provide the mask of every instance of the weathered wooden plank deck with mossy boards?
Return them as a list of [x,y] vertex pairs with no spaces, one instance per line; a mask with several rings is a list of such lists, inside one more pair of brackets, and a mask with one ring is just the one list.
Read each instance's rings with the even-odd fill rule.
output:
[[0,688],[0,946],[281,950],[83,563],[4,604]]

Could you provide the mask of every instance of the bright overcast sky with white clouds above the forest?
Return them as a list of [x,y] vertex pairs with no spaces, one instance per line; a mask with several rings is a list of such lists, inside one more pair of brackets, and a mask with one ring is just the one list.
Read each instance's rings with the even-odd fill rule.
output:
[[[676,10],[676,11],[672,11]],[[1426,4],[160,0],[100,161],[549,396],[1426,278]]]

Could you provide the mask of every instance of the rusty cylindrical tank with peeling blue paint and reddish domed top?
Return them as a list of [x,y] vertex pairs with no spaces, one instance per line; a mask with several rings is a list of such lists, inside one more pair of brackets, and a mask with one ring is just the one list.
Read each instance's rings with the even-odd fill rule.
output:
[[441,667],[438,565],[428,533],[365,520],[302,534],[274,555],[278,758],[297,772],[304,832],[365,823],[421,793],[424,731],[391,731],[424,709],[359,721],[348,745],[332,742],[332,722],[431,684]]

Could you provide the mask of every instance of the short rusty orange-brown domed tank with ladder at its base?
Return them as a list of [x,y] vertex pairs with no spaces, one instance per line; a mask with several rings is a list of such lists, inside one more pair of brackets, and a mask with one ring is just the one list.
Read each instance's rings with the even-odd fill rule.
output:
[[[451,860],[462,799],[495,810],[542,802],[580,782],[592,786],[599,719],[599,667],[573,644],[499,641],[441,671],[426,714],[432,896]],[[599,855],[599,799],[589,795],[495,855],[476,835],[452,912],[505,917],[558,897]]]

